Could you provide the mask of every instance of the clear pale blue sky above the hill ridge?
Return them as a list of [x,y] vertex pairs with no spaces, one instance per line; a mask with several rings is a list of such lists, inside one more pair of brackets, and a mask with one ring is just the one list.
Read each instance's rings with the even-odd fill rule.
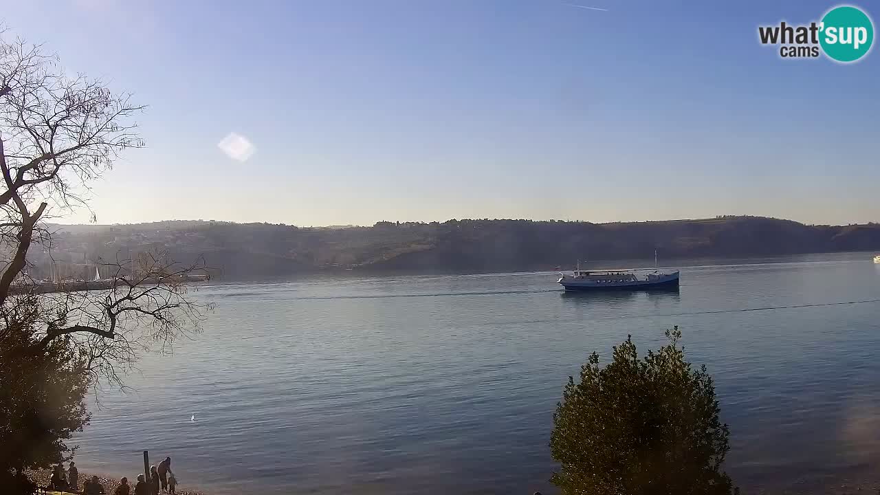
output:
[[[0,16],[149,106],[146,147],[92,184],[100,224],[880,221],[880,52],[783,60],[758,40],[834,5],[33,0]],[[880,3],[856,5],[876,25]],[[231,133],[246,160],[218,147]]]

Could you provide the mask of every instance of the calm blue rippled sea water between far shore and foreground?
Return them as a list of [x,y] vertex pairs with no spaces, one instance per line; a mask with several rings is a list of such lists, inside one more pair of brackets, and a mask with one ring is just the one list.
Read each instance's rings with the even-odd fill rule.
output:
[[[204,332],[144,359],[134,393],[102,395],[77,465],[131,478],[148,449],[212,494],[553,492],[568,375],[679,325],[715,376],[737,484],[872,486],[880,303],[793,306],[880,299],[880,265],[772,261],[686,267],[675,293],[572,296],[552,273],[202,288]],[[759,307],[790,308],[741,311]]]

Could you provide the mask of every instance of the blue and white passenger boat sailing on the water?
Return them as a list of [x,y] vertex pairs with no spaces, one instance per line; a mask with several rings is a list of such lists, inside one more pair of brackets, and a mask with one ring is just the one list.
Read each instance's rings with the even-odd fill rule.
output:
[[558,282],[566,291],[678,289],[678,270],[581,270],[581,262],[577,262],[575,271],[570,276],[561,274]]

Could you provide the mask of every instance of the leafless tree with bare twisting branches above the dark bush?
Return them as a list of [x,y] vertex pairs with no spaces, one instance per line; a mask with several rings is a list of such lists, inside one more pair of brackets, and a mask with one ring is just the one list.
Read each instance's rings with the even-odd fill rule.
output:
[[51,248],[45,219],[88,209],[90,181],[121,151],[143,146],[133,120],[143,108],[99,80],[66,75],[40,46],[0,40],[0,345],[25,321],[36,349],[56,339],[77,346],[93,384],[121,385],[121,368],[197,331],[206,309],[186,287],[201,263],[162,252],[103,262],[109,280],[95,290],[47,291],[27,276],[29,251]]

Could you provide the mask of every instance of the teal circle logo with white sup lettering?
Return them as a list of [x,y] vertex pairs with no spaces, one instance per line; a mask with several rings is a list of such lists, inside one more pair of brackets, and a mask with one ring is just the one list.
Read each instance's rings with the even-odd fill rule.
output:
[[837,62],[855,62],[867,55],[874,42],[874,24],[868,14],[849,5],[834,7],[822,18],[819,44]]

